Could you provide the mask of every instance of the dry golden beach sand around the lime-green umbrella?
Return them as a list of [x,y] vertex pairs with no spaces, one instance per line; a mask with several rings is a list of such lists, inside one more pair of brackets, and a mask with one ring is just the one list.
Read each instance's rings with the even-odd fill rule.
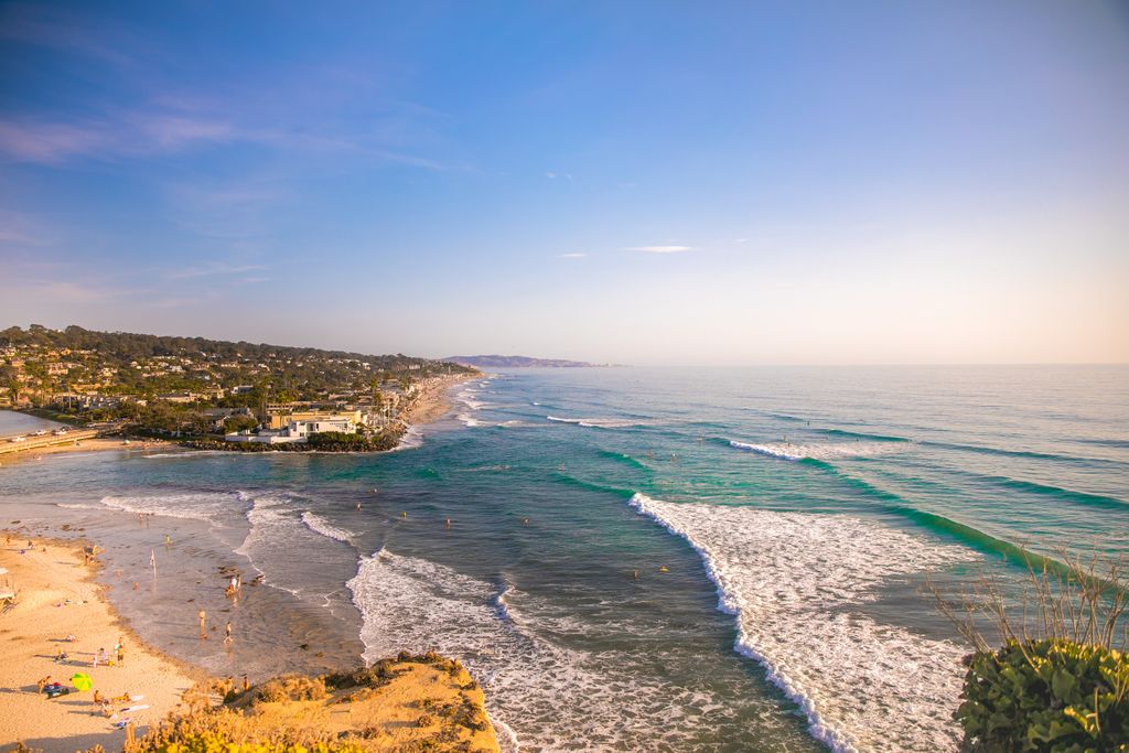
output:
[[[120,750],[124,730],[114,721],[130,718],[139,729],[160,720],[177,708],[181,695],[194,684],[196,674],[141,645],[119,621],[84,566],[78,543],[28,540],[12,534],[0,549],[0,575],[18,589],[14,606],[0,614],[0,747],[24,742],[45,753],[71,753],[93,745]],[[76,640],[65,640],[73,636]],[[91,666],[99,649],[114,653],[122,641],[124,662]],[[68,658],[55,662],[60,653]],[[36,683],[45,677],[70,688],[70,677],[86,673],[90,691],[47,699]],[[94,690],[107,699],[129,693],[133,701],[111,703],[114,717],[96,712]],[[130,707],[147,708],[123,712]]]

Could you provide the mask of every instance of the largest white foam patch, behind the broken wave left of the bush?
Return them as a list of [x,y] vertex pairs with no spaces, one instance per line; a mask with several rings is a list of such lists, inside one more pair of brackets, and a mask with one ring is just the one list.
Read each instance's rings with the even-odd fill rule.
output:
[[718,608],[737,619],[736,649],[795,700],[837,751],[953,751],[961,647],[879,624],[854,610],[891,578],[975,559],[840,515],[671,504],[634,494],[640,513],[706,562]]

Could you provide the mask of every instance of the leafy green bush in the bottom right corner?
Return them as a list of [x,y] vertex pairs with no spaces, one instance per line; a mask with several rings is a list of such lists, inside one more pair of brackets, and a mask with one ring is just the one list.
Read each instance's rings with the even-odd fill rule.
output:
[[1129,752],[1129,656],[1070,640],[1009,641],[978,651],[953,715],[965,747]]

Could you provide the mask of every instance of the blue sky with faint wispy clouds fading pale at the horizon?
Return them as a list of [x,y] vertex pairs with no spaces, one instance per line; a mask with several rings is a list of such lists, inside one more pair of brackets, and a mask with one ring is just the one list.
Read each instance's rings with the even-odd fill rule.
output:
[[0,327],[1129,361],[1129,6],[0,2]]

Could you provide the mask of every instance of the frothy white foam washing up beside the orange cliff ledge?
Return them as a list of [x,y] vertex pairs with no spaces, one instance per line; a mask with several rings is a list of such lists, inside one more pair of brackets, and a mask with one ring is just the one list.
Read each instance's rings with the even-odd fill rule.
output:
[[700,686],[632,672],[654,660],[646,648],[588,653],[557,642],[543,629],[553,607],[508,581],[380,550],[360,559],[348,586],[364,620],[365,659],[400,650],[460,659],[483,685],[509,750],[518,742],[549,751],[686,750],[695,726],[724,713],[721,698]]

